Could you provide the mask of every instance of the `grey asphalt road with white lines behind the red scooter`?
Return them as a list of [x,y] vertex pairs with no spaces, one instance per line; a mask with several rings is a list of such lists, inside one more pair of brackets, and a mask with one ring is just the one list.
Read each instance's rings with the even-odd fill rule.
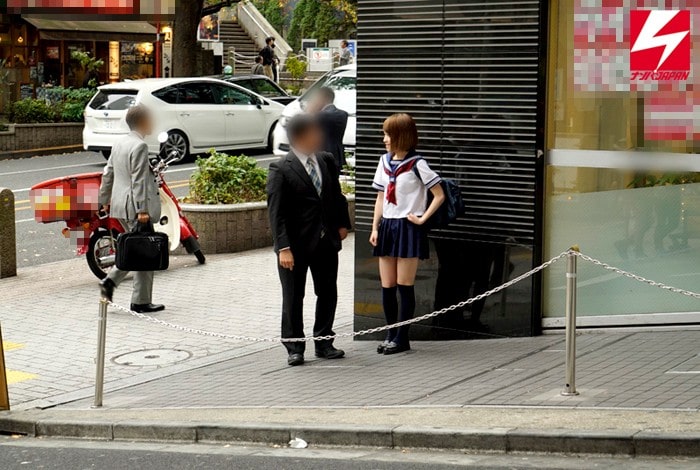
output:
[[[275,159],[259,150],[236,153],[250,155],[264,167]],[[65,224],[39,224],[34,221],[34,212],[29,203],[29,189],[52,178],[102,171],[104,164],[102,155],[93,152],[0,161],[0,188],[9,188],[15,193],[18,267],[36,266],[75,257],[75,248],[61,235]],[[194,167],[193,163],[184,163],[174,165],[168,170],[166,181],[178,197],[187,195],[188,182]]]

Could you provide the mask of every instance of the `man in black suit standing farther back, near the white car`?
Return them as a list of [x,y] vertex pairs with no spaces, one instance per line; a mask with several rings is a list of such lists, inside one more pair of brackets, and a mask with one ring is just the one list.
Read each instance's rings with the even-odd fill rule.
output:
[[309,106],[311,113],[317,113],[319,124],[323,129],[323,149],[332,154],[338,168],[345,166],[345,129],[348,127],[348,113],[338,109],[335,92],[328,87],[319,88]]

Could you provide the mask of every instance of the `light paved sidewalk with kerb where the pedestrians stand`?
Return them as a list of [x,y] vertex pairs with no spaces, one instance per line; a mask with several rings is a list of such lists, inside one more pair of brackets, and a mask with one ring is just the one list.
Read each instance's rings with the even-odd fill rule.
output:
[[[341,255],[347,289],[341,291],[338,332],[352,327],[352,243]],[[17,279],[0,281],[3,293],[11,292],[0,299],[0,320],[13,348],[7,365],[17,371],[10,397],[20,410],[0,414],[0,430],[276,444],[303,435],[316,444],[700,454],[697,330],[582,334],[581,394],[562,397],[561,335],[416,342],[410,353],[392,357],[377,355],[374,342],[343,340],[337,344],[346,359],[316,360],[309,348],[307,364],[289,368],[280,345],[194,336],[112,312],[105,409],[90,410],[98,296],[82,263],[26,269]],[[228,334],[278,334],[279,287],[270,250],[213,256],[205,266],[179,258],[156,283],[155,300],[168,305],[159,318]],[[128,294],[125,286],[115,301],[128,305]],[[307,300],[311,312],[313,296]],[[161,351],[139,352],[146,349]],[[122,356],[128,353],[135,354]],[[49,406],[54,408],[29,410]]]

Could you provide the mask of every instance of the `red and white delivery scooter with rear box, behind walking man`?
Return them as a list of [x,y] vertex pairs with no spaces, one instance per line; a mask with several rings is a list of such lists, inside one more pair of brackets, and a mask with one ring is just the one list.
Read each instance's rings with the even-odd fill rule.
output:
[[[177,161],[177,155],[154,155],[150,159],[160,188],[162,207],[160,220],[154,221],[153,225],[156,231],[168,235],[171,251],[182,244],[200,264],[204,264],[206,257],[199,246],[199,235],[182,214],[177,197],[163,179],[168,166],[174,161]],[[114,266],[116,238],[126,229],[119,220],[100,210],[98,196],[101,182],[102,173],[56,178],[32,187],[30,199],[37,222],[66,222],[63,236],[73,241],[78,256],[86,256],[95,276],[104,279]]]

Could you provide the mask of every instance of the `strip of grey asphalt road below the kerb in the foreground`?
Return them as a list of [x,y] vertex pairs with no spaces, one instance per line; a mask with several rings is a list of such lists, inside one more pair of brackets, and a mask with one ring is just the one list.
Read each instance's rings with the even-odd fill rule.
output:
[[4,470],[685,470],[697,459],[473,455],[381,449],[288,449],[256,446],[86,442],[0,438]]

